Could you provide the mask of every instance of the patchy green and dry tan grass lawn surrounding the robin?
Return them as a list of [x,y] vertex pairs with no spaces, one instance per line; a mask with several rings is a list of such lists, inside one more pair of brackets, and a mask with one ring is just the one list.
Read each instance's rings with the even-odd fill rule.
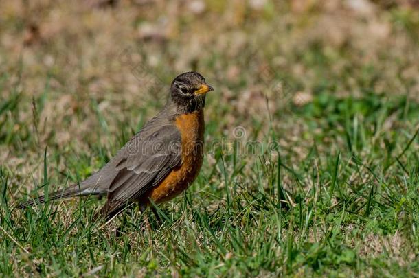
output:
[[[0,3],[0,274],[418,277],[418,11],[206,3]],[[216,87],[207,152],[163,224],[14,209],[102,167],[190,69]]]

